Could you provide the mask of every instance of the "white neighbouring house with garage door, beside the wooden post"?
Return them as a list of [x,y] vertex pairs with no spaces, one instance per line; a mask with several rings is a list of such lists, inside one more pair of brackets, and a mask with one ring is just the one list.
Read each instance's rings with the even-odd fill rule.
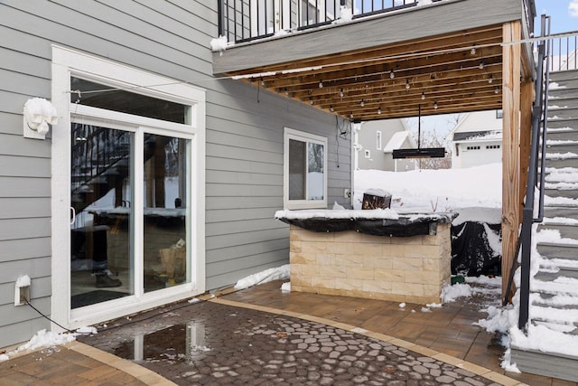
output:
[[447,142],[452,144],[454,169],[501,162],[501,110],[469,113],[453,128]]

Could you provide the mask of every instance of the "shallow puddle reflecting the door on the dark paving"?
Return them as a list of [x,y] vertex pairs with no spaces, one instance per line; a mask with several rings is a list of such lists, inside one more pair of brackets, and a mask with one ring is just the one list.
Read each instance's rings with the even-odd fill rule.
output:
[[195,362],[210,352],[205,325],[190,322],[172,325],[148,334],[136,335],[115,350],[115,355],[135,362]]

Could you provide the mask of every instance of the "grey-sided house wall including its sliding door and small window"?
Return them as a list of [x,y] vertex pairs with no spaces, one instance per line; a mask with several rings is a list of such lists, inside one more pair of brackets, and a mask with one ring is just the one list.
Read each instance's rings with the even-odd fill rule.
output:
[[[349,205],[350,136],[213,76],[218,24],[217,1],[0,4],[0,347],[51,328],[14,306],[18,278],[90,325],[286,264],[275,211]],[[23,124],[36,97],[56,108],[46,139]]]

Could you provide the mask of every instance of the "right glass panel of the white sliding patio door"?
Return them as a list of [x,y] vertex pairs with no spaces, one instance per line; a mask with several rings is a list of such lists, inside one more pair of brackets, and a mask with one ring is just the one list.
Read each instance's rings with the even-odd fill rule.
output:
[[190,281],[188,139],[144,134],[144,292]]

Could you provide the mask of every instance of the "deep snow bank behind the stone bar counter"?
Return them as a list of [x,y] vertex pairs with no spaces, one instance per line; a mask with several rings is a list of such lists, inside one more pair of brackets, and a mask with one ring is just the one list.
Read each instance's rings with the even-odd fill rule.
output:
[[501,210],[502,165],[402,173],[357,170],[354,209],[361,208],[363,193],[369,189],[391,193],[391,208],[397,212],[460,212],[457,210],[470,207]]

